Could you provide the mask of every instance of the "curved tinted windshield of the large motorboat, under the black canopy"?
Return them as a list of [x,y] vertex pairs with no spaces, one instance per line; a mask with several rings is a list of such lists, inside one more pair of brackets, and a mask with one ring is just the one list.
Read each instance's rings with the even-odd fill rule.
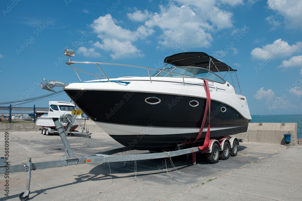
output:
[[160,72],[158,74],[158,72],[156,72],[157,74],[154,73],[152,76],[154,76],[154,77],[164,77],[164,76],[179,77],[181,75],[174,74],[174,73],[179,73],[179,74],[188,75],[188,76],[192,76],[192,77],[204,78],[204,79],[208,79],[208,80],[219,82],[219,83],[225,83],[225,81],[220,76],[218,76],[215,73],[213,73],[207,69],[204,69],[204,68],[177,67],[177,68],[167,68],[164,70],[165,71],[167,70],[172,73]]

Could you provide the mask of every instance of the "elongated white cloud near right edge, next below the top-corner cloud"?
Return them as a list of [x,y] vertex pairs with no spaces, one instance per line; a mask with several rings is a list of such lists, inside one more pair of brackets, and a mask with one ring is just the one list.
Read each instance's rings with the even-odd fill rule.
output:
[[287,57],[294,52],[299,52],[302,47],[302,42],[297,42],[295,45],[289,45],[288,42],[282,41],[281,38],[274,41],[272,44],[262,46],[262,48],[256,47],[252,50],[251,55],[253,59],[267,59],[274,58],[278,54],[278,57]]

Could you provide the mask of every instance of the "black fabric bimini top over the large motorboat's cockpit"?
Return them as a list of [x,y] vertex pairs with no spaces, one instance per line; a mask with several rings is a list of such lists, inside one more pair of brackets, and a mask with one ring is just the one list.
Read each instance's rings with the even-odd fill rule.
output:
[[[172,64],[173,66],[194,66],[205,68],[212,72],[221,71],[237,71],[232,69],[225,63],[207,55],[204,52],[184,52],[166,57],[165,63]],[[209,69],[210,66],[210,69]],[[216,66],[216,67],[215,67]]]

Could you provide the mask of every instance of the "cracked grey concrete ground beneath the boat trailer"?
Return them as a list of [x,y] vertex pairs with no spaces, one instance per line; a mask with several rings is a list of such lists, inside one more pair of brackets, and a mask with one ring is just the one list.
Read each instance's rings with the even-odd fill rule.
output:
[[[3,133],[4,134],[4,133]],[[4,136],[4,135],[2,135]],[[106,133],[72,135],[77,157],[122,147]],[[9,133],[10,164],[64,158],[59,135]],[[140,154],[146,151],[128,151]],[[302,200],[302,145],[240,143],[236,157],[208,164],[204,155],[104,164],[79,164],[32,171],[28,200]],[[0,156],[4,137],[0,138]],[[136,163],[136,166],[135,166]],[[166,170],[167,165],[167,170]],[[124,167],[123,167],[124,166]],[[136,172],[135,172],[136,167]],[[0,175],[0,200],[19,200],[27,173],[9,174],[9,196]]]

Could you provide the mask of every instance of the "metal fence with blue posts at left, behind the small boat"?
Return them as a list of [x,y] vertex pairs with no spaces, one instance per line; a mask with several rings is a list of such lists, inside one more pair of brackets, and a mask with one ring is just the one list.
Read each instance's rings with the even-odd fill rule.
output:
[[0,122],[31,121],[36,123],[37,117],[48,112],[49,108],[21,108],[21,107],[2,107],[0,106]]

